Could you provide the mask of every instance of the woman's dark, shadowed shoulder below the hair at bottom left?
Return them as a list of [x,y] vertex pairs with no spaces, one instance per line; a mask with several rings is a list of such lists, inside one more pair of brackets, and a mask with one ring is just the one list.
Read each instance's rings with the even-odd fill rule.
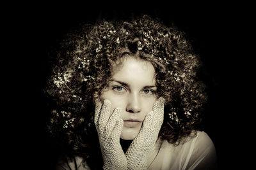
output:
[[60,159],[56,165],[56,170],[64,169],[78,169],[78,170],[88,170],[90,167],[85,163],[83,164],[82,157],[74,157],[72,159]]

